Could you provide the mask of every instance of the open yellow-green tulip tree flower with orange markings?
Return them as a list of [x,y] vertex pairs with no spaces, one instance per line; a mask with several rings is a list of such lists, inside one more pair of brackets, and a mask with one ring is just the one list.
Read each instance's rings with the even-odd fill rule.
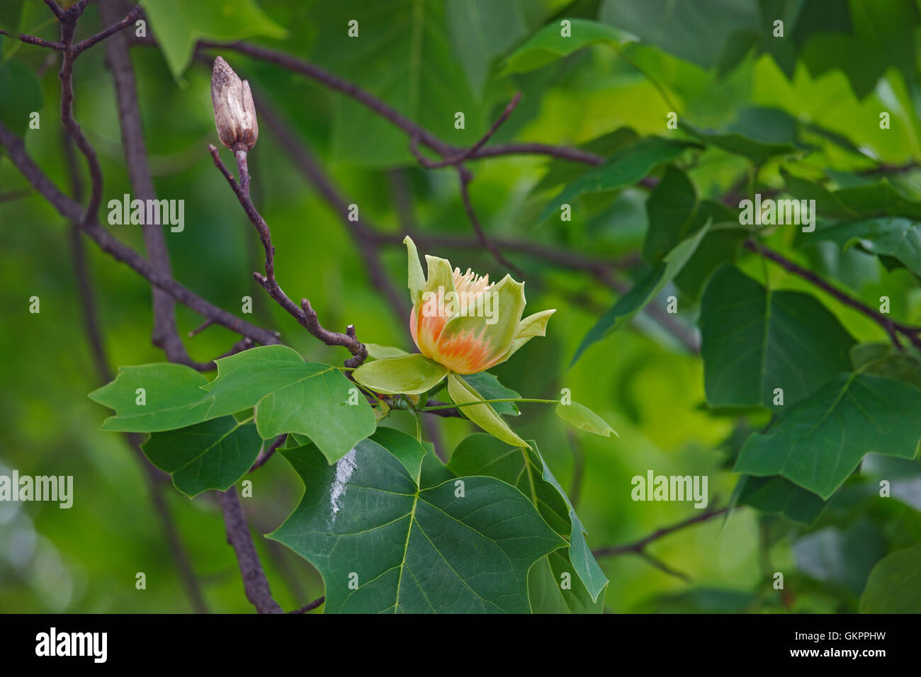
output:
[[[524,283],[506,275],[498,283],[468,270],[461,274],[446,259],[426,255],[422,272],[412,239],[409,290],[413,300],[410,331],[419,348],[414,355],[385,357],[357,368],[355,379],[382,394],[420,395],[448,378],[448,392],[463,413],[486,432],[517,447],[529,447],[495,409],[484,403],[461,375],[475,374],[505,362],[535,336],[543,336],[555,310],[522,318]],[[479,404],[470,404],[480,402]]]

